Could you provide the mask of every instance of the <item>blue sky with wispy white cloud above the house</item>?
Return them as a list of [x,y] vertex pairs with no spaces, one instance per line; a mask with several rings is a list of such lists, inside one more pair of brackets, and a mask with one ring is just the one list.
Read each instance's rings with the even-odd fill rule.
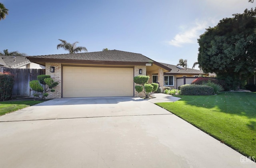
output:
[[[197,39],[223,18],[256,7],[248,0],[0,0],[0,51],[65,54],[58,39],[88,52],[122,50],[157,62],[197,62]],[[198,69],[198,68],[196,68]]]

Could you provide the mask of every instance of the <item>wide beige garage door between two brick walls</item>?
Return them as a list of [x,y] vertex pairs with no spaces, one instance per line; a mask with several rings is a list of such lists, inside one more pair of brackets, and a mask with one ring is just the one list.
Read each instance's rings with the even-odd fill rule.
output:
[[63,67],[63,97],[134,96],[133,68]]

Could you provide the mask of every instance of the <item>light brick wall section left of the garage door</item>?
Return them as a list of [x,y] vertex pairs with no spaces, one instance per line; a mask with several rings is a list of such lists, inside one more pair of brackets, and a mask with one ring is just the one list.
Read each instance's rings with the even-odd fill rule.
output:
[[[50,72],[50,66],[54,66],[54,72]],[[58,82],[59,84],[54,88],[55,92],[48,92],[48,99],[50,98],[61,98],[61,64],[60,63],[51,63],[46,62],[45,65],[45,74],[50,75],[54,82]]]

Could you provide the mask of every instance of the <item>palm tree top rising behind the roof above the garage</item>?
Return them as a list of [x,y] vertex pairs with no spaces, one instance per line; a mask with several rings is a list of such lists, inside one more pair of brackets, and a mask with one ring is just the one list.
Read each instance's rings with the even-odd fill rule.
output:
[[82,51],[86,51],[87,52],[87,49],[85,47],[77,47],[76,46],[76,43],[78,42],[74,42],[74,43],[69,43],[69,42],[66,42],[65,40],[61,40],[60,44],[57,45],[57,50],[59,48],[63,48],[64,50],[67,50],[69,52],[69,54],[74,54],[74,53],[78,53],[78,52],[82,52]]

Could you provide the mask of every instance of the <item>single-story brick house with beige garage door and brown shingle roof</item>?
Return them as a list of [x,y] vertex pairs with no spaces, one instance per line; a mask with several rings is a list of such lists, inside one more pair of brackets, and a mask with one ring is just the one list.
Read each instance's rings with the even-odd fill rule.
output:
[[119,50],[27,58],[30,62],[46,66],[46,75],[59,83],[48,98],[143,96],[134,89],[134,76],[149,75],[150,81],[158,81],[160,87],[175,87],[177,76],[199,75],[191,74],[188,68],[180,69],[184,74],[175,74],[179,70],[172,72],[172,65],[158,63],[142,54]]

